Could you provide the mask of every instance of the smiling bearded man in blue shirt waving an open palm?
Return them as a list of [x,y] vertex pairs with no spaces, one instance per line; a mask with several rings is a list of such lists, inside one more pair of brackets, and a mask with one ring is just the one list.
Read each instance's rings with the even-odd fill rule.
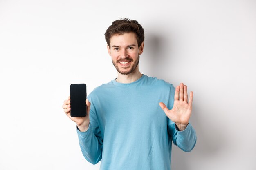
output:
[[63,104],[77,124],[82,153],[92,164],[101,160],[101,170],[170,170],[172,141],[186,152],[196,143],[189,123],[193,92],[188,102],[183,83],[175,89],[141,74],[144,29],[136,20],[114,21],[105,38],[117,78],[90,93],[86,117],[70,116],[70,97]]

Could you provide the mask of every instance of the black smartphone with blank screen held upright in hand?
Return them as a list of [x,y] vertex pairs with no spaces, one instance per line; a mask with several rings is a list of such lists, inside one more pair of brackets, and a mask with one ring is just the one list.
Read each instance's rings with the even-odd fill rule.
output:
[[70,84],[70,115],[86,116],[86,84]]

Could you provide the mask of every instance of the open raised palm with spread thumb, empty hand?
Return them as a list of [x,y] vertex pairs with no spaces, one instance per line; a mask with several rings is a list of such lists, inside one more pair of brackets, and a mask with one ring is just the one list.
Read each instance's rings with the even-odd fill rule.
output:
[[163,102],[160,102],[159,105],[164,110],[166,116],[182,131],[189,124],[189,118],[192,112],[192,101],[193,92],[190,92],[188,102],[187,86],[180,83],[180,86],[177,86],[175,89],[173,108],[169,110]]

